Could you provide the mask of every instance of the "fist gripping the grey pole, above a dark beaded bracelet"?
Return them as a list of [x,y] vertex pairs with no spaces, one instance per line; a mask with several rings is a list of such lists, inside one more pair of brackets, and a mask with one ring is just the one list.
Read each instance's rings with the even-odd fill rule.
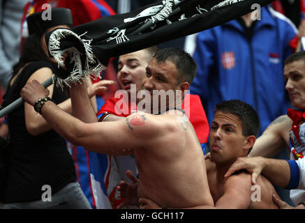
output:
[[20,92],[21,97],[25,102],[34,106],[36,101],[45,98],[50,94],[48,89],[45,89],[36,79],[27,83]]

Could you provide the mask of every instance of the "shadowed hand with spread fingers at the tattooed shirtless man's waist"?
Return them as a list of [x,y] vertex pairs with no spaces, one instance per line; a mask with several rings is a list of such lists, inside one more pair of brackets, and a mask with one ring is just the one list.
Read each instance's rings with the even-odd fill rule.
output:
[[117,197],[124,198],[124,201],[117,206],[117,208],[124,208],[124,206],[137,206],[139,205],[139,197],[137,197],[137,187],[139,185],[139,180],[135,178],[133,172],[130,170],[126,171],[126,175],[131,180],[131,183],[128,183],[122,180],[117,186],[117,190],[120,192]]

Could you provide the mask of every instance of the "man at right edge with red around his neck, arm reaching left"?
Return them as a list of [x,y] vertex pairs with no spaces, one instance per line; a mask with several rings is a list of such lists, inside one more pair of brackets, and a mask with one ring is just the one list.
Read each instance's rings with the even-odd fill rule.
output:
[[[305,201],[304,179],[290,179],[290,170],[292,176],[299,175],[296,173],[299,170],[297,162],[301,164],[305,155],[305,116],[304,112],[302,113],[305,109],[304,51],[292,54],[285,60],[284,79],[286,82],[285,89],[289,93],[292,105],[300,112],[288,109],[288,115],[276,118],[255,142],[253,150],[248,155],[251,158],[239,158],[228,170],[226,177],[239,169],[247,169],[252,174],[252,183],[254,184],[262,171],[275,185],[286,189],[303,189],[290,190],[290,199],[295,203],[295,206],[299,205],[298,207],[304,208],[302,204]],[[298,116],[299,118],[297,118]],[[287,148],[290,152],[289,162],[262,158],[274,157],[283,148]],[[274,201],[280,203],[278,199]]]

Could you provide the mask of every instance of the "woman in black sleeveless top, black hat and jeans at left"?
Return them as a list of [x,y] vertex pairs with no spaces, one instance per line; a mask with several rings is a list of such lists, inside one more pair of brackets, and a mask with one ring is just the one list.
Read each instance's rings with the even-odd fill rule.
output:
[[[57,73],[58,65],[50,59],[45,33],[73,26],[70,10],[52,9],[51,20],[43,12],[27,17],[29,38],[3,100],[3,107],[20,97],[22,87],[33,79],[44,82]],[[72,112],[68,94],[52,84],[50,98],[61,109]],[[96,92],[91,92],[92,96]],[[95,101],[93,98],[92,101]],[[8,114],[8,150],[5,190],[1,208],[91,208],[76,181],[73,160],[66,141],[50,128],[45,119],[24,103]]]

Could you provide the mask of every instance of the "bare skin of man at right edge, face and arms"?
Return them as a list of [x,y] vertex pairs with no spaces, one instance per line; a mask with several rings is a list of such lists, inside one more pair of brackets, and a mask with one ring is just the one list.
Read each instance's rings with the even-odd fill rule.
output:
[[[289,93],[294,107],[305,109],[305,63],[302,60],[293,61],[284,67],[285,89]],[[252,174],[252,183],[258,179],[260,173],[271,180],[271,183],[285,187],[290,180],[290,167],[284,160],[273,160],[264,157],[274,157],[283,148],[289,147],[289,132],[292,120],[288,116],[280,116],[273,121],[261,137],[255,142],[249,158],[239,158],[225,174],[225,178],[231,176],[239,169],[246,169]],[[260,157],[261,156],[261,157]],[[287,208],[286,203],[274,199],[280,208]],[[285,202],[284,202],[285,203]],[[290,207],[290,206],[289,206]],[[299,206],[297,207],[299,208]],[[303,208],[301,206],[301,208]]]

